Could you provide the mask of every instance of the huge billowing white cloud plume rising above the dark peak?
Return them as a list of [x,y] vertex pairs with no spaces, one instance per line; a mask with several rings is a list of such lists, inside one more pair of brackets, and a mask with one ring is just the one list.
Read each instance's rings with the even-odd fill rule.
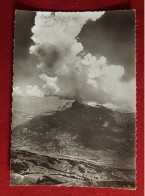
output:
[[122,81],[123,65],[109,65],[104,56],[86,54],[78,42],[88,21],[104,12],[37,12],[32,28],[34,45],[30,53],[38,57],[39,78],[46,95],[95,101],[131,110],[135,108],[135,81]]

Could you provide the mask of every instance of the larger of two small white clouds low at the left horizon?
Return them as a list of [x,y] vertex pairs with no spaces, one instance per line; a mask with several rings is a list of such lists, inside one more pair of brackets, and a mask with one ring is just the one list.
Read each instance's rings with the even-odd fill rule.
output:
[[43,97],[44,93],[38,88],[38,86],[26,86],[26,96]]

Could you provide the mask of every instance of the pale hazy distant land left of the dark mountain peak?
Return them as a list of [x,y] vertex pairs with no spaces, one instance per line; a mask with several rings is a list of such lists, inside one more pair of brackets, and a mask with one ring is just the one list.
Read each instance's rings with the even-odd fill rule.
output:
[[51,115],[55,111],[64,110],[71,107],[71,100],[60,99],[56,96],[49,97],[29,97],[13,96],[12,107],[12,129],[30,119],[40,115]]

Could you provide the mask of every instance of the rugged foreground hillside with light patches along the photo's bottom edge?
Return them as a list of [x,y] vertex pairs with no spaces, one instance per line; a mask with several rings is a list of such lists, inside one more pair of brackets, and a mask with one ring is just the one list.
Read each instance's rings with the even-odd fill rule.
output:
[[65,185],[133,188],[133,169],[113,169],[87,160],[12,151],[11,185]]

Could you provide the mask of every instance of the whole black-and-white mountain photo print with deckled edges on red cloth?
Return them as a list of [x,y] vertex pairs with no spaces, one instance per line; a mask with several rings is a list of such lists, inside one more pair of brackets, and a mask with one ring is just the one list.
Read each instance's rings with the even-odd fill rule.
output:
[[135,10],[15,11],[10,184],[136,189]]

